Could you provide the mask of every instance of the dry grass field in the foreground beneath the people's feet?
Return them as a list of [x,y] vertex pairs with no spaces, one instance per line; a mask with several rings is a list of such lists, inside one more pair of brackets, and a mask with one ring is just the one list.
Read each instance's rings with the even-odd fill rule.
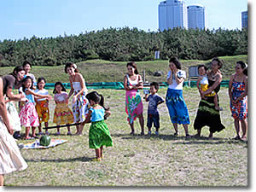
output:
[[[151,137],[138,136],[138,120],[135,123],[137,135],[130,136],[125,113],[125,90],[97,91],[105,96],[112,112],[106,123],[114,146],[104,148],[104,160],[91,161],[95,151],[89,148],[88,143],[90,125],[84,126],[83,137],[66,136],[66,128],[61,128],[61,136],[54,136],[55,130],[50,130],[51,138],[67,139],[68,142],[49,149],[21,149],[28,168],[6,175],[5,185],[247,187],[247,143],[231,139],[236,132],[226,88],[218,94],[220,106],[224,108],[221,119],[226,128],[215,133],[212,140],[207,139],[207,127],[203,129],[201,138],[185,138],[183,127],[179,125],[180,135],[173,137],[174,129],[165,103],[159,106],[160,136],[154,135],[154,129]],[[159,94],[165,98],[166,88],[160,89]],[[195,134],[193,123],[199,94],[195,88],[186,87],[183,96],[189,108],[189,133]],[[146,123],[148,103],[143,102],[143,105]],[[54,102],[51,101],[49,106],[49,125],[53,125]],[[75,130],[72,127],[73,133]],[[27,142],[18,140],[18,143]]]

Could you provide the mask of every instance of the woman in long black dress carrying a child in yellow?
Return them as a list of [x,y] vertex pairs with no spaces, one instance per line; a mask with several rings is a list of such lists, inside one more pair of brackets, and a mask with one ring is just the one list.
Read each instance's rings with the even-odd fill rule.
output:
[[221,67],[222,61],[218,57],[213,58],[212,70],[207,74],[209,89],[201,93],[202,98],[194,122],[194,129],[197,130],[195,137],[201,137],[201,128],[206,125],[210,127],[209,138],[212,138],[214,132],[222,131],[225,128],[221,123],[219,111],[214,108],[214,96],[206,96],[212,90],[218,93],[222,81],[222,75],[219,71]]

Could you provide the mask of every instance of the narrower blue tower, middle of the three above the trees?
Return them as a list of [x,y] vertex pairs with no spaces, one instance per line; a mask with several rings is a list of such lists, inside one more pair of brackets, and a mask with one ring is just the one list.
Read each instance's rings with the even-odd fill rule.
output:
[[201,5],[189,5],[188,12],[188,28],[189,29],[204,29],[205,24],[205,7]]

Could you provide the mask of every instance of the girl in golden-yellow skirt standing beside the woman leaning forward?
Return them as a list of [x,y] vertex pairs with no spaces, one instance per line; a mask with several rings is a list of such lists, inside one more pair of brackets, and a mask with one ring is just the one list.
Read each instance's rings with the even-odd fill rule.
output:
[[[53,122],[56,125],[67,124],[67,135],[72,135],[68,124],[73,123],[73,112],[71,108],[68,107],[68,94],[64,85],[61,84],[61,82],[56,82],[53,93],[55,94],[54,100],[56,103]],[[60,128],[57,128],[56,135],[60,135]]]

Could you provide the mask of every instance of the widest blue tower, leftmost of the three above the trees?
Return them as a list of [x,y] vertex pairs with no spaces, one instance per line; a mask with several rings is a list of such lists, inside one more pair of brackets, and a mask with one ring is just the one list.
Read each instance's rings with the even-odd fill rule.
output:
[[158,6],[159,29],[188,28],[187,9],[184,0],[166,0]]

